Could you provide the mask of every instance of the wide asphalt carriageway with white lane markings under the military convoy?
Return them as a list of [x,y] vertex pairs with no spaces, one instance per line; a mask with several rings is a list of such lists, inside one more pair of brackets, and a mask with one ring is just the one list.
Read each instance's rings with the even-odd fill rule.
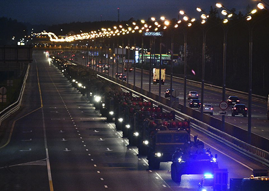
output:
[[[34,52],[22,109],[0,145],[1,191],[197,191],[202,175],[171,179],[171,163],[148,170],[146,157],[74,89],[43,52]],[[165,89],[165,87],[163,87]],[[264,168],[198,132],[228,178]]]

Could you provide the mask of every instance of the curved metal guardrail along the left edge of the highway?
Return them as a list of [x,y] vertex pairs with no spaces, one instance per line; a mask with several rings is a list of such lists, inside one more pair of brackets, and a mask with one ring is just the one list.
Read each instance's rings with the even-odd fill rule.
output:
[[26,73],[25,73],[25,76],[23,79],[22,89],[21,89],[20,95],[18,97],[18,100],[0,112],[0,125],[4,119],[8,118],[11,114],[16,112],[21,107],[22,96],[24,93],[25,83],[26,83],[26,79],[28,76],[29,68],[30,68],[30,65],[28,65],[28,67],[27,67],[27,70],[26,70]]

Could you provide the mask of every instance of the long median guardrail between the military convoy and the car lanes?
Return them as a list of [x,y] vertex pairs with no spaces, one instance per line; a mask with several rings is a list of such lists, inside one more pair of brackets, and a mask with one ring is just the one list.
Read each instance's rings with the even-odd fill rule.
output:
[[[106,78],[109,81],[112,81],[114,83],[119,84],[120,86],[124,87],[125,89],[127,89],[128,91],[134,92],[137,95],[143,96],[145,99],[147,100],[151,100],[153,101],[153,103],[157,104],[157,105],[161,105],[164,109],[168,110],[168,111],[175,111],[177,117],[181,118],[181,119],[189,119],[191,120],[191,127],[196,129],[197,131],[201,132],[202,134],[207,135],[208,137],[218,141],[219,143],[224,144],[225,146],[235,150],[236,152],[247,156],[248,158],[259,162],[267,167],[269,167],[269,152],[262,150],[258,147],[255,147],[253,145],[250,145],[248,143],[245,143],[225,132],[222,132],[221,130],[214,128],[198,119],[192,118],[190,116],[187,116],[169,106],[167,106],[167,101],[169,101],[168,99],[163,98],[161,100],[161,102],[157,102],[156,100],[158,99],[158,95],[154,95],[154,94],[149,94],[149,92],[143,90],[143,94],[141,94],[140,92],[140,88],[138,87],[134,87],[133,85],[129,84],[129,88],[126,87],[127,83],[123,82],[121,80],[115,79],[111,76],[107,76],[104,75],[102,73],[100,73],[99,75],[100,77]],[[147,94],[147,93],[148,94]],[[146,93],[146,94],[144,94]],[[146,96],[148,95],[148,96]]]

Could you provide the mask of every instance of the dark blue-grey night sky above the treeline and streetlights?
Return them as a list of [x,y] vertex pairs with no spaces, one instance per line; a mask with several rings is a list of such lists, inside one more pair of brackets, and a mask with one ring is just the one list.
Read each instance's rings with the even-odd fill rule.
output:
[[196,7],[206,12],[210,6],[223,3],[228,9],[236,8],[244,14],[247,5],[255,7],[255,0],[0,0],[0,17],[16,19],[30,24],[64,24],[71,22],[117,21],[117,7],[120,21],[130,18],[147,19],[165,16],[178,18],[180,9],[191,17],[198,18]]

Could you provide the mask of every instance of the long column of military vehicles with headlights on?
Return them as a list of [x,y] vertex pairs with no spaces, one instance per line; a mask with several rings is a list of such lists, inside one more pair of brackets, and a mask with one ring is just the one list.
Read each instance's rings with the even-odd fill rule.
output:
[[[139,155],[147,156],[149,169],[158,169],[161,162],[174,160],[172,179],[180,182],[181,174],[194,173],[187,171],[183,167],[185,164],[195,163],[199,161],[198,159],[209,156],[187,158],[184,155],[187,152],[187,143],[194,145],[197,143],[190,141],[190,121],[177,120],[173,111],[163,112],[162,107],[154,106],[152,102],[144,101],[142,97],[122,92],[118,85],[98,77],[89,67],[66,63],[55,57],[51,58],[51,62],[64,73],[77,90],[87,95],[95,109],[100,110],[108,121],[115,118],[116,129],[122,130],[123,137],[129,139],[130,145],[138,147]],[[182,162],[188,163],[182,165],[179,159],[175,160],[175,157],[172,157],[176,149],[180,149],[183,153],[181,158],[179,157]]]

